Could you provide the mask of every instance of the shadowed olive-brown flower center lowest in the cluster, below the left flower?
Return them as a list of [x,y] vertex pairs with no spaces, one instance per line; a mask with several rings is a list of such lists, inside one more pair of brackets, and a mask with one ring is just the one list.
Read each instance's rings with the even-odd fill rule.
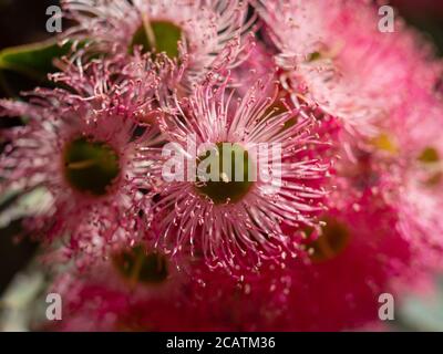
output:
[[166,257],[158,252],[146,252],[142,246],[115,254],[113,264],[132,283],[159,284],[169,275]]

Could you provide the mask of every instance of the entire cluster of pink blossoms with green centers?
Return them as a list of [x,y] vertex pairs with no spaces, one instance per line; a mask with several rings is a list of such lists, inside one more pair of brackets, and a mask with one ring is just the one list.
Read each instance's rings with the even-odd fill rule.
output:
[[[427,289],[443,65],[400,19],[380,31],[364,0],[62,3],[56,88],[0,101],[27,118],[0,191],[45,190],[23,222],[68,264],[59,330],[354,330],[381,323],[380,294]],[[189,136],[246,165],[278,144],[278,181],[165,178]]]

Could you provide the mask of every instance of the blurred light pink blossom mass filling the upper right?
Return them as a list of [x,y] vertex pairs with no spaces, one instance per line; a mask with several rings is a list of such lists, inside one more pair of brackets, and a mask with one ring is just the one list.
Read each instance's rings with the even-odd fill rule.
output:
[[[434,236],[442,227],[436,211],[442,110],[434,91],[442,66],[401,20],[393,33],[381,32],[368,3],[267,1],[258,9],[280,51],[289,92],[319,104],[352,133],[334,140],[341,160],[329,206],[341,209],[347,194],[380,195],[398,216],[396,230],[414,247],[422,242],[431,258],[441,249]],[[363,136],[356,139],[356,133]],[[425,152],[433,162],[421,162]],[[434,185],[424,183],[431,179]]]

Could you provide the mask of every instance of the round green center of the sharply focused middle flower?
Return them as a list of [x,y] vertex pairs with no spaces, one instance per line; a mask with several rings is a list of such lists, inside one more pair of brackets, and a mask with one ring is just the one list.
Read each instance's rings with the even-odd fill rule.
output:
[[253,162],[238,144],[217,143],[197,158],[196,189],[215,204],[237,202],[250,190]]

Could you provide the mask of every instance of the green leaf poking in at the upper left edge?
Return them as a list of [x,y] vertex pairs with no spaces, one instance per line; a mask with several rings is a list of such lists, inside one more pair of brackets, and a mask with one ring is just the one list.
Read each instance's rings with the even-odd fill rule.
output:
[[55,70],[54,59],[68,54],[70,49],[70,42],[59,45],[54,39],[8,48],[0,51],[0,70],[13,71],[34,80],[44,81],[47,74]]

